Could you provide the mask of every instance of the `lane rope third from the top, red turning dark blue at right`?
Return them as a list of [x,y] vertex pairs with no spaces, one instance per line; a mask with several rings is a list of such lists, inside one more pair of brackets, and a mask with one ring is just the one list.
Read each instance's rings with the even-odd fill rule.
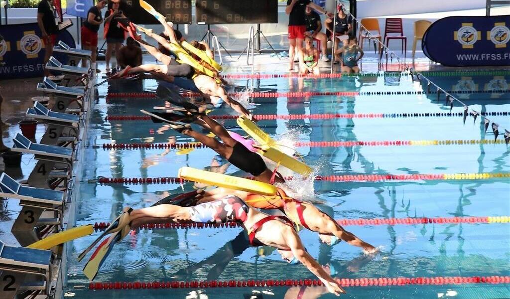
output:
[[[485,112],[481,115],[486,116],[506,116],[510,112]],[[335,119],[335,118],[410,118],[410,117],[463,117],[462,112],[427,112],[427,113],[324,113],[324,114],[254,114],[258,120],[275,119]],[[213,119],[237,119],[238,115],[210,115]],[[150,120],[148,115],[108,115],[106,121],[113,120]]]

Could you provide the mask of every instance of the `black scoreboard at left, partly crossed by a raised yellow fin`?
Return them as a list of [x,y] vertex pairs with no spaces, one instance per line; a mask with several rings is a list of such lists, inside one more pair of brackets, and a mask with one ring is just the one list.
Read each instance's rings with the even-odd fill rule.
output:
[[[174,24],[191,24],[191,0],[145,0],[167,21]],[[140,7],[138,0],[126,0],[126,16],[135,24],[159,24],[160,22]]]

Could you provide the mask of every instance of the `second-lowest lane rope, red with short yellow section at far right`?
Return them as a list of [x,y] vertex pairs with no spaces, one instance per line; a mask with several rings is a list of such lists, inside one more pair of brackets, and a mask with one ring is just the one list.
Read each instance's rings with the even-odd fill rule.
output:
[[[338,219],[341,226],[383,226],[383,225],[425,225],[425,224],[479,224],[479,223],[508,223],[510,216],[483,216],[483,217],[420,217],[420,218],[373,218],[373,219]],[[110,226],[110,222],[95,222],[95,230],[104,230]],[[240,228],[236,222],[226,223],[151,223],[137,228],[140,229],[208,229],[208,228]]]

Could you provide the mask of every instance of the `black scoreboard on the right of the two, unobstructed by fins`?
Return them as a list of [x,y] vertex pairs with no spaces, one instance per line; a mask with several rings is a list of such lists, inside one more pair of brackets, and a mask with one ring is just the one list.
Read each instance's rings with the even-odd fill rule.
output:
[[277,0],[196,0],[198,24],[278,22]]

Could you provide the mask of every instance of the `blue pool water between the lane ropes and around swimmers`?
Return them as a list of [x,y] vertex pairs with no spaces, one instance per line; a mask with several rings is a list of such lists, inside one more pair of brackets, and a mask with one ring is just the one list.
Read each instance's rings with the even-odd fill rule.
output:
[[[494,77],[497,77],[494,79]],[[510,80],[510,76],[430,77],[446,90],[487,90]],[[234,85],[258,91],[417,91],[419,82],[409,76],[365,76],[338,79],[238,80]],[[424,85],[425,86],[425,85]],[[77,203],[77,225],[107,222],[124,206],[148,207],[169,194],[192,190],[191,184],[100,185],[98,177],[175,177],[182,166],[204,168],[216,156],[210,149],[187,155],[176,150],[103,150],[104,143],[164,143],[192,141],[151,121],[105,121],[106,116],[141,115],[140,109],[164,106],[154,98],[106,99],[108,93],[155,91],[154,80],[120,80],[99,88],[89,125],[89,140],[83,159],[83,181]],[[506,85],[508,91],[508,86]],[[509,112],[510,93],[459,93],[470,109],[481,112]],[[253,99],[254,114],[329,113],[437,113],[449,112],[444,95],[358,95],[310,96]],[[454,104],[453,112],[462,112]],[[233,115],[222,107],[211,115]],[[489,116],[503,128],[510,128],[507,115]],[[235,120],[224,126],[242,133]],[[480,118],[388,117],[261,120],[259,126],[278,139],[294,141],[409,141],[409,140],[494,140]],[[290,133],[289,133],[290,132]],[[285,134],[286,133],[286,134]],[[282,137],[282,134],[285,136]],[[411,146],[298,147],[304,161],[316,174],[402,175],[453,173],[508,173],[510,151],[503,143]],[[225,161],[223,161],[225,162]],[[230,166],[228,174],[242,175]],[[291,175],[291,172],[285,172]],[[335,219],[405,218],[510,215],[510,181],[507,178],[461,180],[393,180],[357,182],[292,182],[295,193],[316,203]],[[313,191],[313,192],[312,192]],[[315,195],[313,195],[315,193]],[[381,248],[375,257],[341,242],[333,247],[321,244],[317,234],[301,231],[300,237],[320,264],[333,267],[339,278],[507,276],[510,275],[510,227],[507,223],[455,225],[347,226],[347,230]],[[88,289],[82,273],[86,259],[78,254],[97,236],[72,243],[69,261],[69,295],[85,298],[295,298],[299,287],[206,288],[206,289]],[[239,228],[163,229],[132,232],[115,245],[101,268],[98,282],[203,281],[314,279],[302,265],[289,265],[276,252],[258,255]],[[444,286],[348,287],[345,298],[508,298],[505,284]],[[93,292],[93,294],[91,293]],[[322,287],[309,287],[303,298],[332,298]]]

